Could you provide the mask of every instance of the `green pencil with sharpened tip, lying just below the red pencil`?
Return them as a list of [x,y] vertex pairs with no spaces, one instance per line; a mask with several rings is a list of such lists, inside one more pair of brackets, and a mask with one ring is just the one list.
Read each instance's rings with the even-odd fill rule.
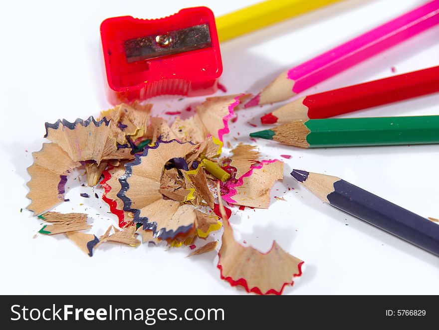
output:
[[439,116],[296,120],[250,137],[301,148],[435,144]]

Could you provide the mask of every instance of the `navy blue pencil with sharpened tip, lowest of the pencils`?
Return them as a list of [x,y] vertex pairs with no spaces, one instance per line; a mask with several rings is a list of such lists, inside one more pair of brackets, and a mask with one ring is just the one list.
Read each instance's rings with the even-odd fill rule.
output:
[[293,169],[323,201],[439,256],[439,225],[339,177]]

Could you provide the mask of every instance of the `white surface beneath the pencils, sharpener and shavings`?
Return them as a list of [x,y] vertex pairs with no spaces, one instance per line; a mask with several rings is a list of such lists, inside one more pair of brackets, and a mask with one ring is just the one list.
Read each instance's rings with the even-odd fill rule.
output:
[[[245,294],[220,280],[215,253],[185,258],[189,248],[104,244],[92,258],[64,235],[37,234],[41,222],[25,210],[31,152],[44,142],[44,122],[97,116],[110,108],[104,93],[99,24],[107,17],[153,18],[185,6],[207,5],[216,15],[254,1],[7,1],[0,11],[0,239],[2,294]],[[228,93],[258,92],[281,71],[392,17],[419,0],[348,0],[221,44]],[[312,88],[325,91],[439,65],[439,26]],[[392,73],[391,68],[396,68]],[[217,93],[223,95],[221,91]],[[154,113],[183,110],[203,98],[162,96]],[[277,106],[277,105],[276,105]],[[242,110],[226,138],[251,143],[259,117],[276,106]],[[439,115],[439,95],[361,111],[355,116]],[[253,128],[248,122],[258,125]],[[238,136],[238,132],[240,135]],[[237,138],[237,141],[233,139]],[[303,275],[284,294],[439,294],[439,258],[323,204],[290,177],[291,168],[323,172],[439,218],[438,146],[300,150],[258,141],[265,158],[285,160],[266,210],[233,211],[235,238],[261,251],[276,240],[305,261]],[[227,150],[226,150],[227,152]],[[91,233],[116,223],[93,197],[102,189],[68,181],[56,210],[90,214]],[[76,179],[73,179],[76,178]],[[82,180],[78,183],[78,180]],[[287,187],[291,187],[290,191]],[[279,190],[276,190],[279,189]],[[284,193],[284,191],[286,191]],[[79,197],[88,192],[91,198]],[[287,201],[273,197],[282,196]],[[83,203],[82,206],[79,203]],[[23,208],[20,213],[20,208]],[[217,234],[218,238],[219,234]],[[200,241],[199,241],[200,243]]]

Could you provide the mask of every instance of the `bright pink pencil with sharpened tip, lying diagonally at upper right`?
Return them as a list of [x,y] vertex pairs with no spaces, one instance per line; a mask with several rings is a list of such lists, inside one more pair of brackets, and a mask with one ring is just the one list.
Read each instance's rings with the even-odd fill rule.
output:
[[326,53],[282,72],[245,107],[287,100],[439,23],[439,0],[430,1]]

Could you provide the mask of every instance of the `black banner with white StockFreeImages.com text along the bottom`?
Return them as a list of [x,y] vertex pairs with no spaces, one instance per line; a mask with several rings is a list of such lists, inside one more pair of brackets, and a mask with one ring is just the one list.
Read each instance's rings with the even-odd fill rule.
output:
[[[3,296],[1,325],[81,329],[383,326],[436,324],[420,296]],[[354,323],[352,323],[354,322]],[[208,327],[208,328],[206,328]],[[3,328],[11,329],[11,328]]]

